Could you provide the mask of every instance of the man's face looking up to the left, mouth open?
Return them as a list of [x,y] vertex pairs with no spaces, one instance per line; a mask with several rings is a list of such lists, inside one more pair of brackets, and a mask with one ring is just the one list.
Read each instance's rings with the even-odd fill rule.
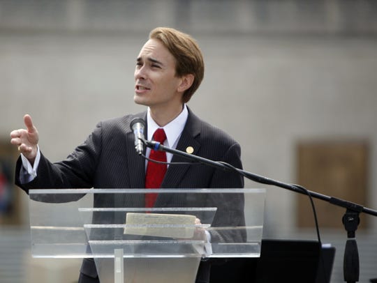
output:
[[182,107],[182,79],[175,76],[175,58],[160,41],[150,39],[140,50],[133,100],[151,109]]

